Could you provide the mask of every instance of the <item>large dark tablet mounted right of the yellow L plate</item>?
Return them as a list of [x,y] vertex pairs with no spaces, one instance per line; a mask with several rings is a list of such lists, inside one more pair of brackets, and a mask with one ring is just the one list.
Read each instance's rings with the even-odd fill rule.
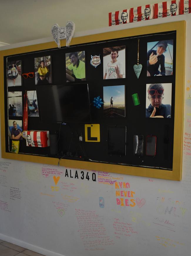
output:
[[126,155],[126,126],[108,125],[108,154]]

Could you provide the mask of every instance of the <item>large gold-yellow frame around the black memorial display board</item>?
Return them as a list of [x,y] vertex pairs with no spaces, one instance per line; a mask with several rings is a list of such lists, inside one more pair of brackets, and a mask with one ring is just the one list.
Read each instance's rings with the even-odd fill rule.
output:
[[[121,166],[115,164],[103,164],[96,162],[83,162],[76,160],[61,159],[60,165],[80,168],[91,169],[105,172],[116,172],[128,175],[137,175],[144,177],[161,178],[167,180],[181,180],[182,178],[182,139],[183,139],[183,111],[184,111],[184,85],[185,85],[185,34],[186,34],[186,22],[170,22],[166,24],[152,25],[146,27],[138,27],[126,30],[119,30],[115,32],[107,32],[96,35],[88,35],[83,37],[76,37],[72,39],[71,45],[90,43],[101,40],[109,40],[122,37],[130,37],[137,35],[144,35],[149,33],[159,33],[165,31],[176,30],[176,90],[175,90],[175,123],[174,123],[174,147],[173,147],[173,167],[172,171],[142,168],[142,167],[130,167]],[[66,45],[66,41],[61,41],[61,46]],[[24,46],[20,48],[14,48],[9,50],[0,51],[0,84],[1,84],[1,155],[2,158],[22,160],[28,162],[36,162],[43,164],[58,164],[57,158],[33,156],[26,154],[12,154],[5,152],[5,113],[4,113],[4,56],[19,55],[26,52],[34,52],[38,50],[46,50],[55,48],[55,42],[41,43],[37,45]]]

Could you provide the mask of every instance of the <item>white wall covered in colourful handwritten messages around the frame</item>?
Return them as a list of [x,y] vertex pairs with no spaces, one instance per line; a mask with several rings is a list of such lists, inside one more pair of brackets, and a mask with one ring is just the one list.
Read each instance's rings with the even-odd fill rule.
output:
[[[71,178],[69,168],[67,177],[64,167],[0,159],[0,239],[49,256],[190,255],[191,14],[130,26],[183,19],[187,20],[184,86],[189,90],[185,90],[188,146],[183,149],[182,181],[96,171],[96,181],[91,179],[93,171],[88,171],[90,180],[82,180],[80,169],[75,179],[76,169],[71,169]],[[52,175],[45,177],[48,172]],[[60,177],[57,191],[53,176]],[[117,189],[115,181],[129,186]],[[124,192],[116,197],[116,190]],[[123,197],[127,191],[135,194]],[[133,207],[118,205],[116,198],[129,199],[126,204]]]

